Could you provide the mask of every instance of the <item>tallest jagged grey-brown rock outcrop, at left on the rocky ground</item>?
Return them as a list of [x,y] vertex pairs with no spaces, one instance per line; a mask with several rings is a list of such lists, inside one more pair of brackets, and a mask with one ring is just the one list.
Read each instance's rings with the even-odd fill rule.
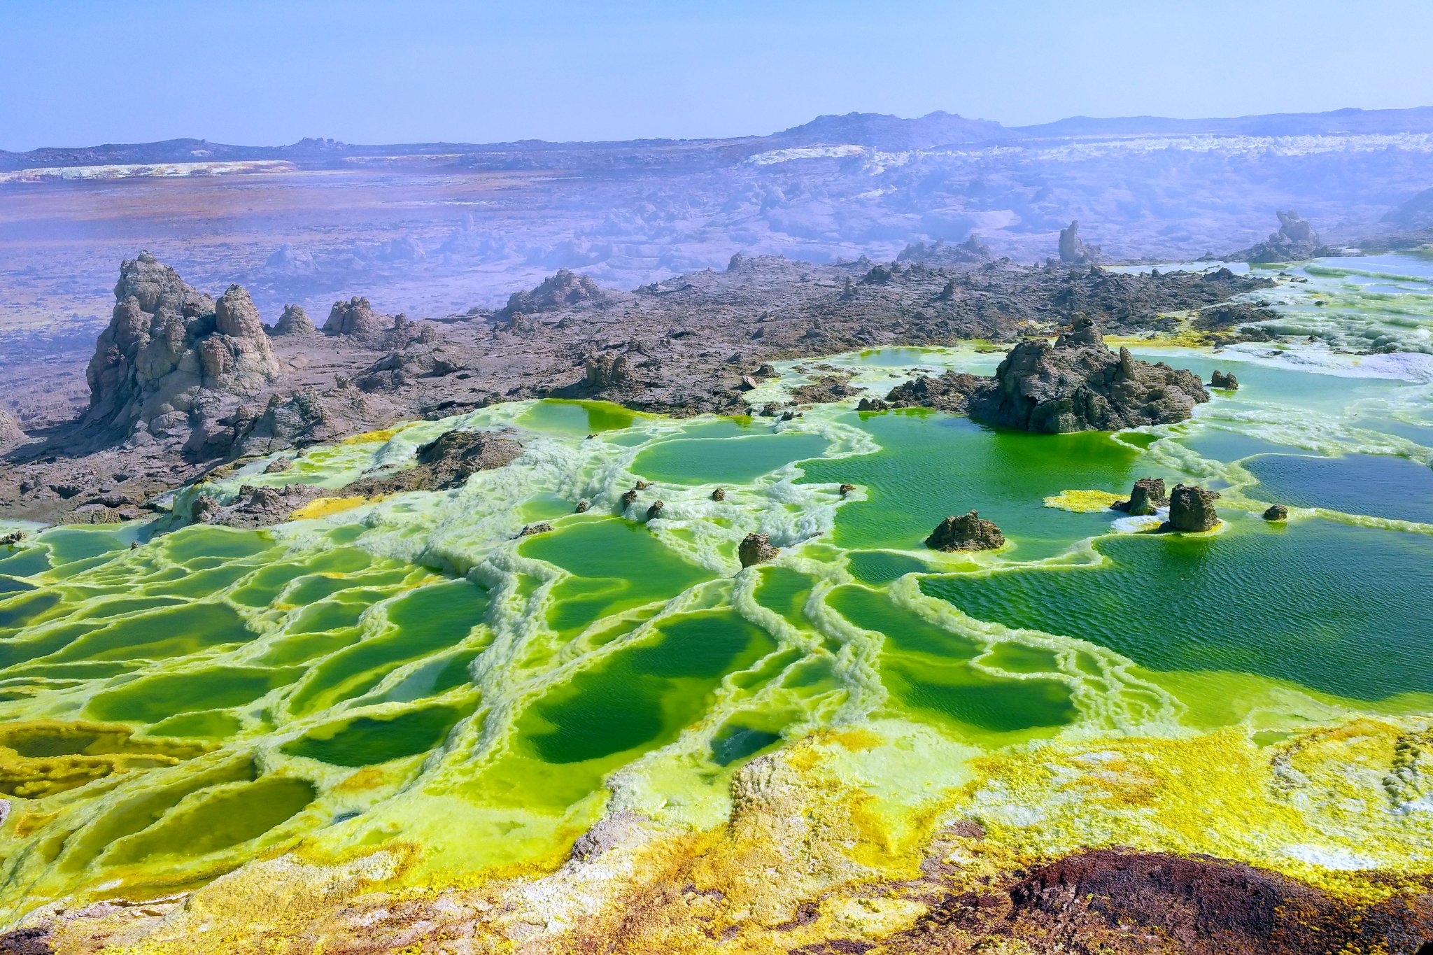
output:
[[[208,451],[224,431],[215,422],[278,378],[278,362],[242,286],[214,301],[142,252],[120,265],[115,311],[85,377],[86,425]],[[191,441],[198,431],[202,440]]]

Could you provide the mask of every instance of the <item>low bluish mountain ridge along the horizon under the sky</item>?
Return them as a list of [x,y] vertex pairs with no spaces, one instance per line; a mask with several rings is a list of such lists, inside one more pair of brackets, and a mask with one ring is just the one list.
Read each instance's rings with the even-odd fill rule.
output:
[[53,147],[27,152],[0,150],[0,170],[53,169],[64,166],[152,165],[198,162],[288,160],[304,166],[325,166],[345,159],[383,156],[441,156],[480,153],[542,152],[631,152],[719,149],[749,155],[771,149],[858,145],[904,152],[949,145],[1019,142],[1027,139],[1078,139],[1122,136],[1320,136],[1433,132],[1433,106],[1412,109],[1338,109],[1327,113],[1268,113],[1260,116],[1169,119],[1125,116],[1095,119],[1072,116],[1035,126],[1003,126],[995,120],[967,119],[934,112],[916,119],[887,113],[817,116],[808,123],[767,136],[727,139],[629,139],[610,142],[549,142],[524,139],[504,143],[380,143],[351,145],[334,139],[301,139],[287,146],[238,146],[206,139],[168,139],[153,143],[105,143],[99,146]]

